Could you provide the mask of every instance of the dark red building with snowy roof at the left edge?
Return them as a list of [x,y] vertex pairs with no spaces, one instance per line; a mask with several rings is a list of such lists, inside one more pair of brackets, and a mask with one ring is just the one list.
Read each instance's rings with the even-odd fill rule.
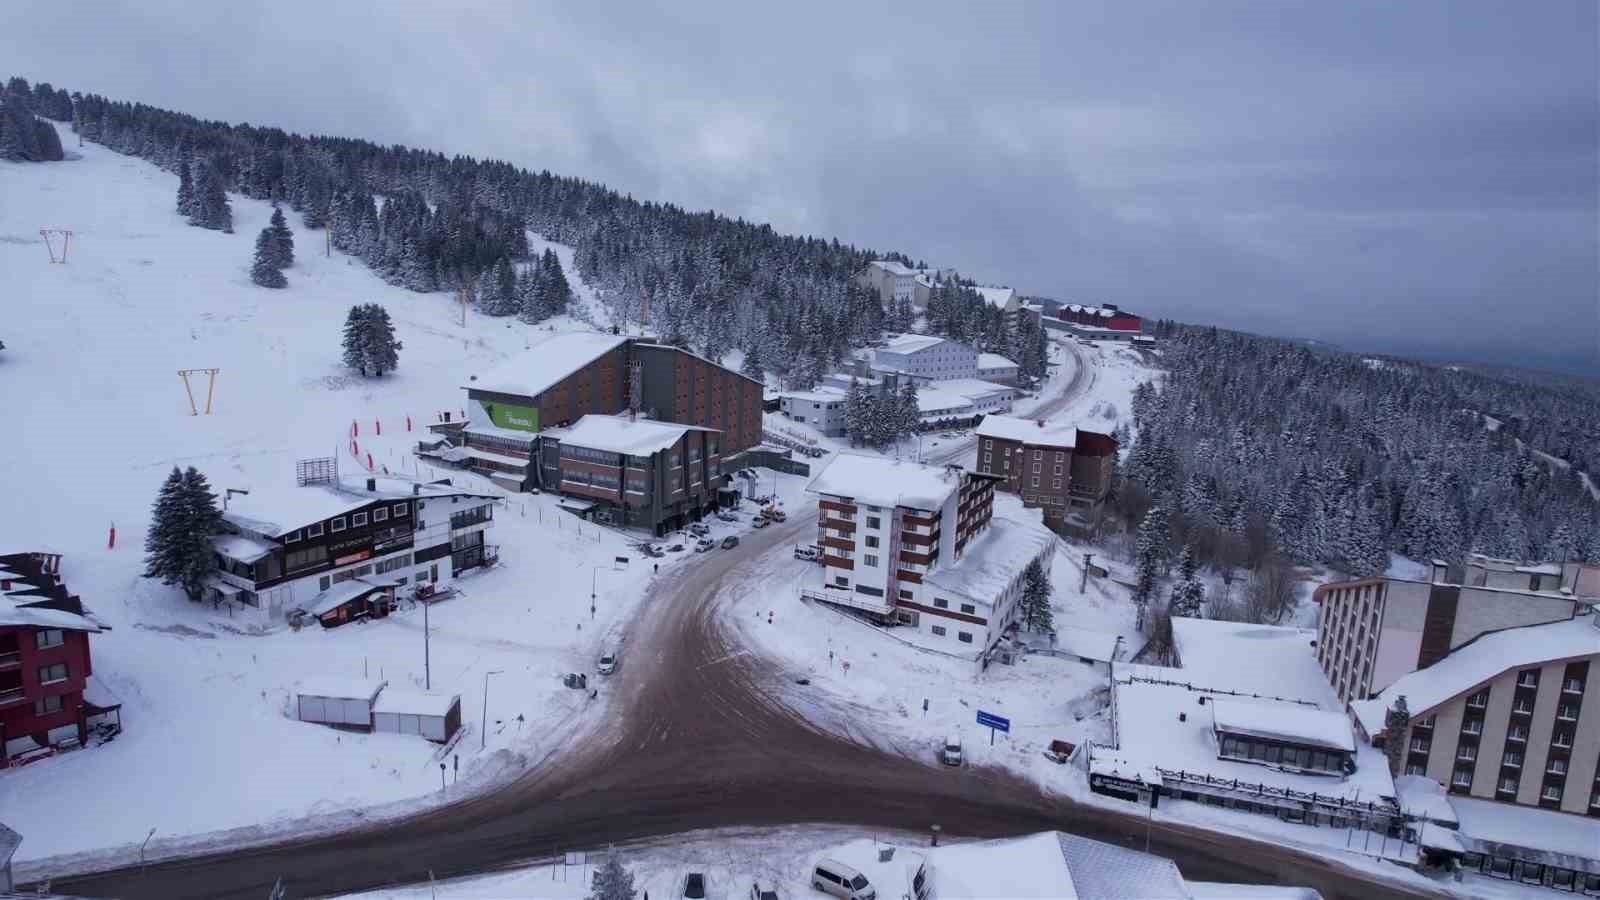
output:
[[90,634],[102,626],[59,570],[58,554],[0,554],[0,769],[42,748],[82,745],[88,719],[115,709],[83,700]]

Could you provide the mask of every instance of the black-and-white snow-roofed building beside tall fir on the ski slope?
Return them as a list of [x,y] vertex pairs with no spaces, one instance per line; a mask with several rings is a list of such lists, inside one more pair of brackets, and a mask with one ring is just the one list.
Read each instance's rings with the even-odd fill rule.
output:
[[211,544],[214,599],[282,618],[355,578],[443,586],[494,560],[496,498],[448,484],[357,476],[232,495]]

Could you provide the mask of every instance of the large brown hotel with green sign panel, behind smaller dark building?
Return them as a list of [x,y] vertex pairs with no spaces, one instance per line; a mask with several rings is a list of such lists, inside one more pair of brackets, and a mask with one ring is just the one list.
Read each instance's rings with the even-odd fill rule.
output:
[[554,487],[539,482],[539,434],[586,415],[637,410],[717,429],[728,455],[762,440],[760,381],[646,338],[555,335],[464,389],[467,424],[456,455],[510,490]]

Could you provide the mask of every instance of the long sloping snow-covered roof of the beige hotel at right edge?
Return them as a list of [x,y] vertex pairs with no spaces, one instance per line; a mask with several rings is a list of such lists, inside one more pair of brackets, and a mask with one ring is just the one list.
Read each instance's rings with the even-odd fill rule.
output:
[[1507,669],[1594,655],[1600,655],[1600,629],[1594,615],[1493,631],[1456,647],[1426,669],[1400,676],[1378,697],[1350,703],[1350,711],[1366,733],[1378,735],[1384,730],[1384,713],[1397,697],[1405,697],[1411,716],[1422,716]]

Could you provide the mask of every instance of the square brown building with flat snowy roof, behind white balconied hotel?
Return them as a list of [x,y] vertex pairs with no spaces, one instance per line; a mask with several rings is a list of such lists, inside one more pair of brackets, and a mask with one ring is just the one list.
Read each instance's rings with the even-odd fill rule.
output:
[[1117,440],[1109,434],[1043,420],[990,415],[978,424],[978,471],[1000,479],[1045,524],[1093,530],[1110,493]]

